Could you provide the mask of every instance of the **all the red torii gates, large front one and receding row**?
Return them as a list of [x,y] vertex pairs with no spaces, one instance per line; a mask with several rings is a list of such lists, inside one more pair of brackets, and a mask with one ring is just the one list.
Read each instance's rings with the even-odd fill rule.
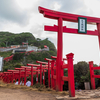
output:
[[[95,35],[98,36],[100,46],[100,18],[88,17],[76,14],[69,14],[49,10],[43,7],[39,7],[39,12],[46,18],[54,19],[58,21],[58,25],[45,26],[45,31],[58,32],[57,34],[57,57],[52,56],[52,59],[45,58],[47,62],[37,61],[39,65],[27,64],[27,66],[21,66],[21,68],[15,68],[15,70],[8,70],[7,72],[1,72],[0,78],[4,82],[13,82],[13,79],[20,79],[24,77],[24,85],[26,83],[26,77],[31,75],[31,85],[33,85],[33,76],[36,75],[36,82],[38,83],[38,75],[40,74],[40,84],[42,84],[42,73],[43,73],[43,84],[45,84],[45,72],[48,70],[48,87],[63,90],[64,81],[68,81],[69,96],[75,96],[75,85],[74,85],[74,70],[73,70],[73,53],[66,55],[66,59],[62,57],[63,52],[63,32],[74,33],[83,35]],[[67,28],[63,26],[63,21],[78,23],[78,29]],[[87,24],[97,25],[97,30],[87,30]],[[54,60],[55,59],[55,60]],[[63,60],[67,60],[67,64],[63,63]],[[94,75],[94,70],[100,70],[100,67],[93,67],[93,62],[89,62],[90,65],[90,76],[91,85],[95,89],[95,78],[100,78],[100,75]],[[30,67],[28,67],[30,66]],[[36,68],[34,68],[36,67]],[[64,76],[64,69],[68,68],[68,76]]]

